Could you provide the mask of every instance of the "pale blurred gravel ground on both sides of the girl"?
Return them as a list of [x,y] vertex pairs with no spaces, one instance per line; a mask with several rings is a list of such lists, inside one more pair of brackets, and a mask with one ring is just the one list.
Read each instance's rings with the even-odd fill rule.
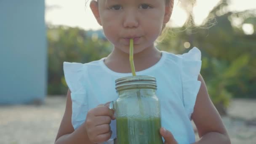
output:
[[[0,144],[53,144],[65,97],[36,105],[0,106]],[[234,99],[222,117],[232,144],[256,144],[256,100]]]

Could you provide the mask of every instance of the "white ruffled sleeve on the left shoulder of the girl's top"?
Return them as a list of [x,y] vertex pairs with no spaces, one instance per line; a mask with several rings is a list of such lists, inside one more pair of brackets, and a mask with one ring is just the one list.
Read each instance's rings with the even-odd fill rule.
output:
[[85,121],[88,104],[86,90],[83,85],[85,81],[85,67],[80,63],[63,63],[66,83],[71,91],[72,99],[72,125],[77,129]]

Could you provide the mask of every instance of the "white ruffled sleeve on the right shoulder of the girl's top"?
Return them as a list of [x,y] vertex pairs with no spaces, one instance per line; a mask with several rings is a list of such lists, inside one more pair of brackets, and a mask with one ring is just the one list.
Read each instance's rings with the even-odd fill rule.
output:
[[184,107],[189,118],[194,111],[197,93],[201,82],[198,75],[201,69],[201,52],[198,48],[192,48],[188,53],[181,55],[181,79]]

